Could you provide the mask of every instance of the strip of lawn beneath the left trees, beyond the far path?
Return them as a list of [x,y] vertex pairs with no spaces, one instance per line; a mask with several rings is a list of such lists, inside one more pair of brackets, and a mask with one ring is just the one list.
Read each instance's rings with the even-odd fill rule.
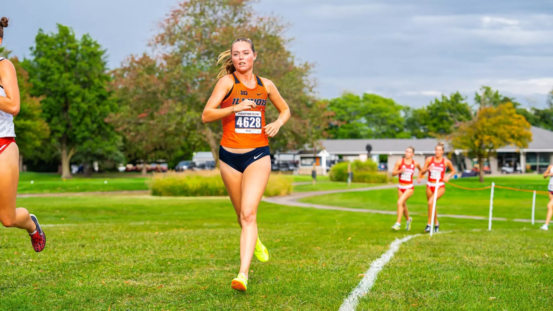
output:
[[58,174],[22,172],[17,193],[148,190],[147,180],[148,177],[142,177],[139,173],[92,174],[92,178],[75,174],[72,179],[62,180]]

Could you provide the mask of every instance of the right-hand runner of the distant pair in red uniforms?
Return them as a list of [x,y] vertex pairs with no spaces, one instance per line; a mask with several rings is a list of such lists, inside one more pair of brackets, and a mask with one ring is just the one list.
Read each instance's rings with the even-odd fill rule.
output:
[[[424,167],[419,173],[417,181],[420,180],[426,172],[429,173],[428,182],[426,183],[426,198],[428,199],[428,222],[424,229],[425,233],[430,232],[432,222],[432,205],[434,205],[434,191],[436,189],[436,183],[438,184],[437,199],[440,199],[446,192],[446,184],[449,179],[455,175],[455,167],[449,159],[444,158],[444,143],[439,142],[434,149],[434,157],[427,157],[424,163]],[[451,173],[446,175],[446,169],[450,169]],[[437,208],[434,214],[434,232],[440,230],[440,223],[438,222]]]

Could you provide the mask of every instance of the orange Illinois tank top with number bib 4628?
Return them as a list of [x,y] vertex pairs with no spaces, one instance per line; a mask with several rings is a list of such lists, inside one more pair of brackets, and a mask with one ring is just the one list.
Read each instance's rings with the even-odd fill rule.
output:
[[232,73],[234,85],[221,102],[221,108],[238,105],[244,100],[251,100],[257,105],[252,110],[232,113],[222,119],[223,138],[221,146],[228,148],[258,148],[269,146],[265,135],[265,106],[267,106],[267,89],[260,77],[255,76],[256,85],[248,89],[240,79]]

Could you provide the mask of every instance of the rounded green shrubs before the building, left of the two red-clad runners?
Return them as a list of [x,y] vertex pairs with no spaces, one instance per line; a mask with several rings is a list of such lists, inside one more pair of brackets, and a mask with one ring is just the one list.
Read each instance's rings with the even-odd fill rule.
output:
[[[328,177],[334,182],[347,182],[348,162],[337,163],[330,169]],[[387,183],[388,175],[377,172],[377,164],[371,160],[351,163],[354,183]]]

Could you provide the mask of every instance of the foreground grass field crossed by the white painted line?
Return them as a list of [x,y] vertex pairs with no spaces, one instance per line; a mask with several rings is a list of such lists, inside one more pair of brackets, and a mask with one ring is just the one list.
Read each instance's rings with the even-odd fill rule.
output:
[[[240,231],[227,199],[95,195],[18,206],[39,217],[48,244],[35,253],[24,231],[0,229],[3,310],[337,310],[358,274],[406,235],[389,215],[262,203],[270,260],[254,258],[241,293],[230,288]],[[553,232],[517,222],[475,231],[485,227],[444,219],[450,234],[405,242],[358,310],[549,309]]]

